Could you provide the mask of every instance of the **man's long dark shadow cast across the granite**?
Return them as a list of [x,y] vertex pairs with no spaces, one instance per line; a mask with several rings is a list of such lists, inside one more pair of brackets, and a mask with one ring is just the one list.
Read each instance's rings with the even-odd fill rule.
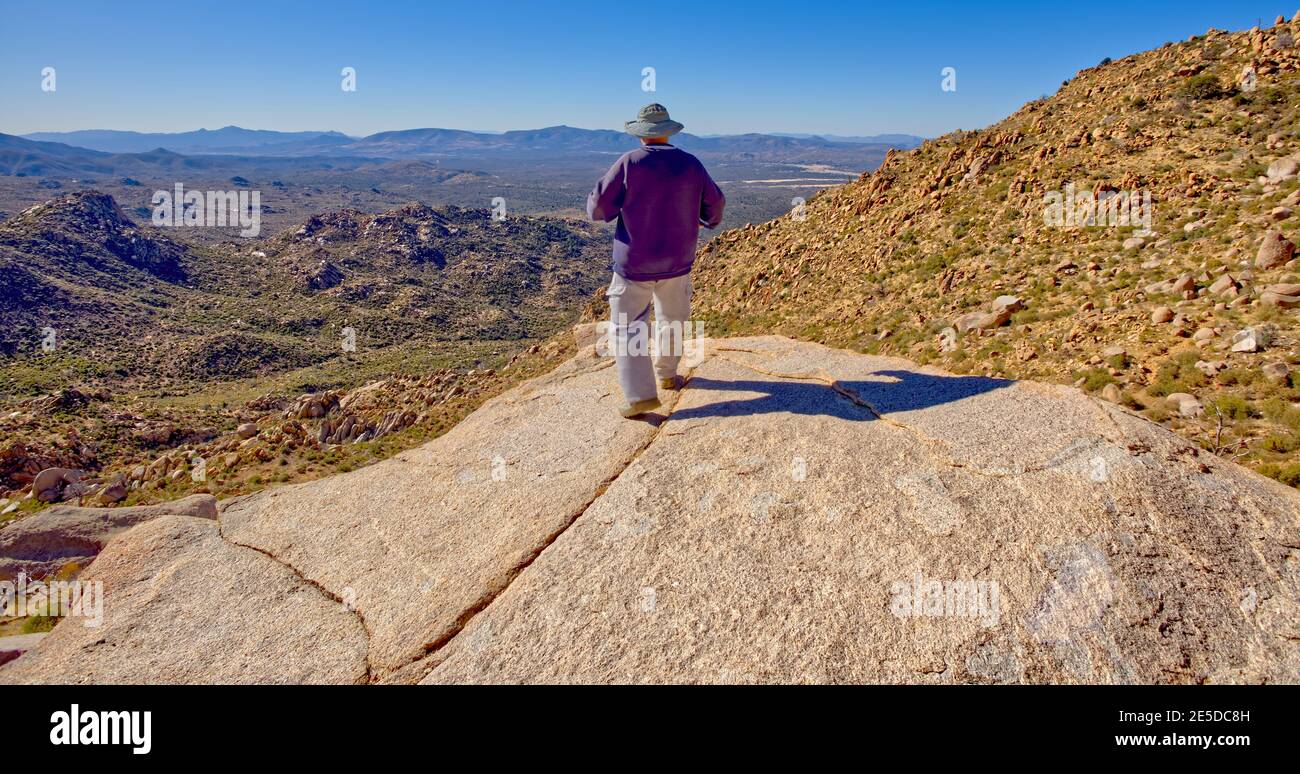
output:
[[805,414],[824,415],[853,421],[868,421],[879,414],[911,411],[941,403],[952,403],[971,395],[988,393],[1015,384],[1005,379],[987,376],[933,376],[913,371],[878,371],[879,381],[840,381],[846,392],[863,403],[819,381],[797,380],[728,380],[692,377],[686,390],[718,390],[760,393],[754,398],[718,401],[693,408],[679,408],[668,419],[701,419],[705,416],[745,416],[751,414]]

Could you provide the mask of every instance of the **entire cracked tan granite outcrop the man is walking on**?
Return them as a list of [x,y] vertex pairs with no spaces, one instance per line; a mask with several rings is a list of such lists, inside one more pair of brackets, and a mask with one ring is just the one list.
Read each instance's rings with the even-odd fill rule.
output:
[[[0,682],[1300,680],[1300,494],[1153,423],[780,337],[708,342],[628,421],[610,366],[225,502],[220,537],[135,527],[87,570],[109,628]],[[247,572],[300,604],[226,605]]]

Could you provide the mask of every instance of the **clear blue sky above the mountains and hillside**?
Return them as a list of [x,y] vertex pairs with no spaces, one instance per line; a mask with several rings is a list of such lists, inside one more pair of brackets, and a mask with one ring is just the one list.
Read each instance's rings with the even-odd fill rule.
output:
[[[662,101],[697,134],[933,137],[987,126],[1105,56],[1294,12],[1257,0],[0,0],[0,131],[615,129]],[[46,66],[53,92],[40,90]],[[355,92],[339,88],[344,66]],[[946,66],[956,92],[940,88]]]

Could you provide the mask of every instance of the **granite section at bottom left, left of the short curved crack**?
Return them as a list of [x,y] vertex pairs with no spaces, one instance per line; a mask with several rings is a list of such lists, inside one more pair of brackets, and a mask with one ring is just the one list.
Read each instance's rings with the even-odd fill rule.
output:
[[226,542],[209,519],[139,524],[79,580],[103,584],[100,624],[60,621],[0,667],[0,683],[367,680],[360,619],[290,567]]

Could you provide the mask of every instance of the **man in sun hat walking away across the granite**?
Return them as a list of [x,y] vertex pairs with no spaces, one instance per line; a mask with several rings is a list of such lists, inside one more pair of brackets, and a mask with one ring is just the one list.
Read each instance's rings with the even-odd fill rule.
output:
[[[641,108],[624,130],[641,147],[614,163],[586,198],[592,220],[619,220],[614,232],[610,299],[611,343],[623,388],[619,414],[640,416],[659,407],[655,386],[681,389],[681,330],[690,317],[690,267],[699,226],[718,228],[725,196],[705,165],[668,144],[682,125],[660,104]],[[647,321],[654,303],[655,351],[650,368]]]

